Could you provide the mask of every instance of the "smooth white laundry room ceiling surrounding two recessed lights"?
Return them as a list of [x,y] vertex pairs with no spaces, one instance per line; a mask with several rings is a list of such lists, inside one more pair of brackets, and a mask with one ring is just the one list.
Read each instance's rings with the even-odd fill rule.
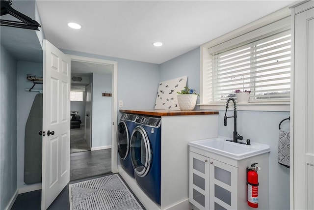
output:
[[[159,64],[292,2],[38,0],[37,5],[46,39],[60,49]],[[82,29],[70,29],[68,22]],[[155,41],[164,45],[154,47]]]

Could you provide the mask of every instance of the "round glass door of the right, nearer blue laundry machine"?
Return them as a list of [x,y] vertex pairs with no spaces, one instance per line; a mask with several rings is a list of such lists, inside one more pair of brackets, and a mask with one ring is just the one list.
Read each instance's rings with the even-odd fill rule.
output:
[[145,177],[152,162],[152,148],[147,133],[142,126],[134,128],[131,135],[131,160],[135,173]]

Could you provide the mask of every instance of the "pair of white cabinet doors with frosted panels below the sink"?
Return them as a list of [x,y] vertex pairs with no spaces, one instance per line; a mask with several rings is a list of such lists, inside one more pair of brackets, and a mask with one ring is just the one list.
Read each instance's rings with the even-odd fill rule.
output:
[[237,168],[192,151],[189,159],[190,203],[200,210],[236,209]]

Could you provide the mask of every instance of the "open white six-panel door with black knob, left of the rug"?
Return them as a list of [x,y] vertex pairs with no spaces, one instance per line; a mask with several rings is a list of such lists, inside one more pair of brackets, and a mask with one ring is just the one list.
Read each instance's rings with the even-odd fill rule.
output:
[[41,209],[46,210],[70,181],[71,60],[44,40],[43,163]]

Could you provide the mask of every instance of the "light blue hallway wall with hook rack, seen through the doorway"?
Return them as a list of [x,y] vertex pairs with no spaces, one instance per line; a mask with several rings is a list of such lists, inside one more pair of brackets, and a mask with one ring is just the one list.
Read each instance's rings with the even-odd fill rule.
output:
[[92,148],[111,146],[112,97],[103,93],[112,92],[112,75],[93,73]]

